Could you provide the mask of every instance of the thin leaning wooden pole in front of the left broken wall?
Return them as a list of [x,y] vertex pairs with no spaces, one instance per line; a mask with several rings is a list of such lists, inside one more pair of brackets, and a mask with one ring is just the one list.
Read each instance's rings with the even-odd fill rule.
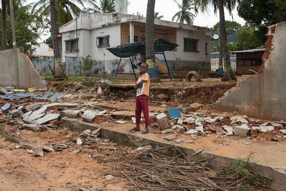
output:
[[13,64],[15,65],[16,88],[20,88],[14,7],[13,7],[13,1],[10,0],[9,2],[10,2],[10,17],[11,17],[11,27],[12,27],[12,41],[13,41]]

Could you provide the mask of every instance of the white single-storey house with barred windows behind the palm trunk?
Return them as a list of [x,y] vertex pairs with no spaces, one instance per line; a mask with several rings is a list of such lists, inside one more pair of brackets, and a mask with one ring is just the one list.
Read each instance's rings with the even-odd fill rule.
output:
[[[144,41],[146,18],[131,14],[81,12],[79,17],[59,28],[62,61],[67,57],[87,57],[96,61],[97,71],[115,72],[120,58],[106,48]],[[210,70],[209,28],[155,19],[155,39],[178,44],[165,52],[171,70],[196,70],[198,63]],[[160,56],[158,56],[160,57]],[[128,59],[122,59],[122,72],[130,72]]]

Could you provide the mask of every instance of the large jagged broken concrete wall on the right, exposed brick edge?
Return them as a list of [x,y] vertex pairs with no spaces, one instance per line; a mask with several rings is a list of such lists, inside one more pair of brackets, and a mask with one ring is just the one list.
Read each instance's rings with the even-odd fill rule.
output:
[[237,111],[249,117],[286,119],[286,21],[270,26],[259,75],[242,77],[236,88],[215,104],[218,110]]

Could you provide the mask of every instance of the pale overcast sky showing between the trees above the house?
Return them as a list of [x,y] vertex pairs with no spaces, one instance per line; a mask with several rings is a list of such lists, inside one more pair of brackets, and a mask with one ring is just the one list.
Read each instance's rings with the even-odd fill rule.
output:
[[[140,12],[140,14],[143,14],[146,16],[146,7],[147,7],[147,1],[148,0],[128,0],[128,14],[136,14],[137,12]],[[37,2],[37,0],[27,0],[27,3]],[[164,16],[164,20],[171,21],[173,15],[178,12],[178,6],[177,3],[173,0],[156,0],[155,1],[155,12],[159,12],[160,15]],[[178,0],[179,3],[182,3],[182,0]],[[233,10],[232,12],[233,17],[229,15],[229,12],[225,10],[225,19],[229,21],[236,21],[240,23],[241,25],[245,24],[245,21],[238,17],[237,10]],[[196,26],[204,26],[211,28],[213,27],[218,21],[219,21],[219,15],[214,14],[213,8],[210,6],[208,12],[199,13],[193,21],[193,25]],[[46,39],[46,37],[43,37]]]

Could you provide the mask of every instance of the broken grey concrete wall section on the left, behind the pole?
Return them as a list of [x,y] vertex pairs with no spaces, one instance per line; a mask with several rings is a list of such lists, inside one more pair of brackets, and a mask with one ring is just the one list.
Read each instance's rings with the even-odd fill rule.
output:
[[[46,83],[42,79],[35,66],[25,54],[18,52],[19,61],[19,88],[45,88]],[[0,51],[0,86],[16,86],[16,66],[13,61],[13,50]]]

